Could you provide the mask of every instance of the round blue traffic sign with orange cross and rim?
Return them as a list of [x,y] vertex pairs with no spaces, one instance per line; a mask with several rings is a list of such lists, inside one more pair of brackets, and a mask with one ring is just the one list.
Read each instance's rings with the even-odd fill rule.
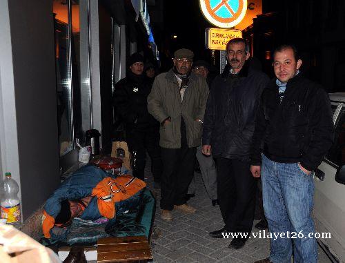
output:
[[199,0],[204,17],[219,28],[232,28],[246,15],[247,0]]

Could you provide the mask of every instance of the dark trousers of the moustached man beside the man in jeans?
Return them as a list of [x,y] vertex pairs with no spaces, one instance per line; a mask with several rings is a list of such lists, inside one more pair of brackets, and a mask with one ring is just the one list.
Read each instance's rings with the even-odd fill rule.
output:
[[254,220],[256,180],[249,162],[216,158],[217,196],[228,232],[251,232]]

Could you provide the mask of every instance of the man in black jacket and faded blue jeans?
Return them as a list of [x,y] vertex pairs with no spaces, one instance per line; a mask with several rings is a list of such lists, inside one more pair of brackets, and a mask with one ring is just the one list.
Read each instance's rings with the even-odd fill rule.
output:
[[317,262],[313,171],[332,145],[333,118],[328,95],[301,65],[294,46],[276,48],[277,79],[263,91],[255,123],[250,171],[262,177],[268,228],[279,233],[270,257],[257,263],[291,262],[292,253],[294,262]]

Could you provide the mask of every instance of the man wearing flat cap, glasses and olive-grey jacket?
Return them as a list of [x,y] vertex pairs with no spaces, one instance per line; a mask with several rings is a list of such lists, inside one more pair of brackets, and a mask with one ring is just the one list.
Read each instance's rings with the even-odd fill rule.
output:
[[186,204],[194,175],[195,153],[200,145],[208,97],[206,80],[191,71],[194,53],[182,48],[174,53],[174,66],[158,75],[148,95],[148,112],[161,124],[161,219],[172,221],[172,209],[195,213]]

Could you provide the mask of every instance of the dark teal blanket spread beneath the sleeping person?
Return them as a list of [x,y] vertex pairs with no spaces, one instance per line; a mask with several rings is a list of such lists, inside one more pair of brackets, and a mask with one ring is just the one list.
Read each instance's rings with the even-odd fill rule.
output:
[[68,228],[53,229],[52,238],[42,237],[41,243],[46,246],[72,246],[97,244],[101,237],[124,237],[146,235],[150,239],[155,216],[155,198],[145,189],[138,193],[139,201],[135,208],[126,209],[125,201],[117,203],[115,219],[102,217],[95,221],[75,217]]

